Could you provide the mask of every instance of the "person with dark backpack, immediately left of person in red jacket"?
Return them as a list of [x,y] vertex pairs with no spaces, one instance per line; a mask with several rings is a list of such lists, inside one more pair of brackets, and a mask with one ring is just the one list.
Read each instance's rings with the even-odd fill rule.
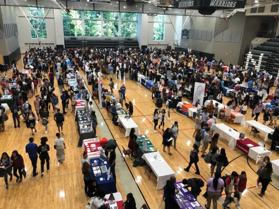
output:
[[234,180],[236,179],[237,176],[238,176],[237,172],[233,171],[231,175],[225,175],[221,177],[221,179],[224,182],[224,188],[226,193],[225,202],[222,204],[224,209],[227,208],[228,204],[230,204],[233,200],[231,197],[232,188],[233,188]]

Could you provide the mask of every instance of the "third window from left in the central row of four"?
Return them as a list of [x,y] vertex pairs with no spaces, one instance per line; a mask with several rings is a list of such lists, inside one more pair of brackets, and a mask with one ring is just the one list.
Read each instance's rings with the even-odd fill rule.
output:
[[118,12],[103,12],[104,37],[118,37]]

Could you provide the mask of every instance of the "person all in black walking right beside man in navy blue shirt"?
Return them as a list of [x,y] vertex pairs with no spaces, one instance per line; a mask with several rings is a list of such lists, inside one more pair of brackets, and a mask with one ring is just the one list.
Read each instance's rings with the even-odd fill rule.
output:
[[47,172],[49,172],[49,155],[48,151],[50,150],[49,145],[46,143],[48,141],[47,137],[41,138],[41,145],[38,147],[38,154],[41,160],[41,176],[44,176],[44,165],[45,161],[47,163]]

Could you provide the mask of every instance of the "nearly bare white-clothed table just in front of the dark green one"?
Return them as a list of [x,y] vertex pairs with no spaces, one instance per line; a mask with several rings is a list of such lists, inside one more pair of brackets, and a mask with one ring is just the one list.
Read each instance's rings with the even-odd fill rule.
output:
[[[156,156],[156,158],[154,158],[154,156]],[[145,153],[142,158],[151,167],[157,177],[156,189],[163,189],[166,185],[166,181],[170,179],[170,176],[175,176],[175,172],[170,168],[169,164],[166,163],[159,152]]]

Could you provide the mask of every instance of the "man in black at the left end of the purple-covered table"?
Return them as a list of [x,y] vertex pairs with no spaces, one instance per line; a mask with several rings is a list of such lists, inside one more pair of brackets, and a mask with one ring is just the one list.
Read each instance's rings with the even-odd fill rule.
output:
[[170,179],[166,181],[165,209],[179,208],[174,200],[175,195],[179,193],[179,189],[175,188],[175,182],[175,176],[170,176]]

